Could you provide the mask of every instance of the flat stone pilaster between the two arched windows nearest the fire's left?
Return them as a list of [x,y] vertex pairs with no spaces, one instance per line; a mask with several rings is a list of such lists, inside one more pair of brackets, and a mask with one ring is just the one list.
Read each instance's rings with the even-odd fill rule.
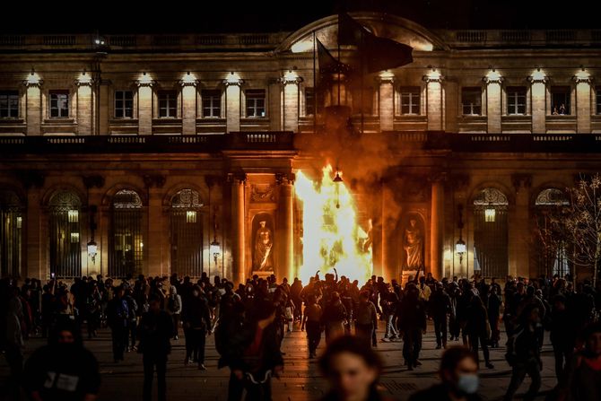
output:
[[164,249],[163,236],[169,235],[164,231],[162,210],[162,187],[165,178],[161,175],[144,176],[144,185],[148,189],[148,231],[144,239],[144,261],[147,269],[144,275],[168,275],[167,266],[163,265]]

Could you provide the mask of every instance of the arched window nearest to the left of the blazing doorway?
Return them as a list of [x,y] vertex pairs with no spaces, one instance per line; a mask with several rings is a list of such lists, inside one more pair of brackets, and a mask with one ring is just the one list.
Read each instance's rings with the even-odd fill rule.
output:
[[194,189],[182,189],[171,199],[171,272],[179,276],[203,273],[202,206]]

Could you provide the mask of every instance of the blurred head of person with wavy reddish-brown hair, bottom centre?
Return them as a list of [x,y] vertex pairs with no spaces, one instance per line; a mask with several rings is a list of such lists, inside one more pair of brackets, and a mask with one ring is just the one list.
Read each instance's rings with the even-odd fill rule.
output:
[[319,360],[319,367],[331,387],[322,401],[391,399],[378,392],[382,362],[370,343],[361,337],[341,336],[333,340]]

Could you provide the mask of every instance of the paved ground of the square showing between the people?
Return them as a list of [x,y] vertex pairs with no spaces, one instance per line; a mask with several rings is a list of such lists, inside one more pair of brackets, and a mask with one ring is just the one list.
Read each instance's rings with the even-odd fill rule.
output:
[[[382,325],[382,322],[380,322]],[[292,334],[287,334],[283,340],[285,367],[281,379],[274,379],[274,401],[316,400],[327,390],[327,383],[321,379],[318,372],[317,361],[309,360],[305,333],[300,328],[294,327]],[[383,327],[379,329],[379,337],[384,333]],[[505,343],[501,335],[501,344]],[[459,342],[449,342],[459,344]],[[28,352],[39,344],[39,338],[30,339],[27,343]],[[207,370],[197,370],[195,364],[184,366],[184,339],[172,342],[173,352],[170,354],[167,367],[168,398],[171,401],[184,400],[225,400],[227,398],[227,384],[229,370],[218,370],[218,354],[214,349],[213,336],[206,344],[205,366]],[[100,388],[100,401],[137,400],[142,398],[142,356],[138,353],[126,353],[125,362],[114,363],[111,353],[110,336],[108,330],[101,330],[100,336],[86,340],[85,345],[91,349],[100,362],[102,386]],[[323,351],[325,344],[319,345]],[[424,336],[420,361],[422,366],[413,371],[407,371],[403,363],[402,342],[378,344],[378,353],[384,360],[385,370],[381,377],[381,384],[389,396],[398,400],[405,400],[414,391],[427,388],[438,382],[436,370],[440,362],[442,350],[436,350],[436,341],[431,331],[431,322],[428,333]],[[481,394],[485,399],[501,399],[510,381],[510,367],[503,359],[504,350],[492,349],[491,359],[494,369],[481,370]],[[482,353],[481,353],[482,359]],[[543,386],[538,399],[544,399],[545,393],[555,386],[553,373],[553,350],[548,337],[545,338],[543,347]],[[0,360],[0,378],[2,381],[7,376],[4,359]],[[529,385],[526,379],[518,390],[521,398]],[[156,389],[155,389],[156,391]],[[0,396],[0,399],[2,397]]]

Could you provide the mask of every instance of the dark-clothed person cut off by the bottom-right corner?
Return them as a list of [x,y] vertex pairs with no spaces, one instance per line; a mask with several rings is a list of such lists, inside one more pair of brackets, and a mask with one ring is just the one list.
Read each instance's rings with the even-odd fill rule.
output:
[[584,349],[566,365],[560,382],[560,401],[601,399],[601,323],[585,328],[583,338]]

